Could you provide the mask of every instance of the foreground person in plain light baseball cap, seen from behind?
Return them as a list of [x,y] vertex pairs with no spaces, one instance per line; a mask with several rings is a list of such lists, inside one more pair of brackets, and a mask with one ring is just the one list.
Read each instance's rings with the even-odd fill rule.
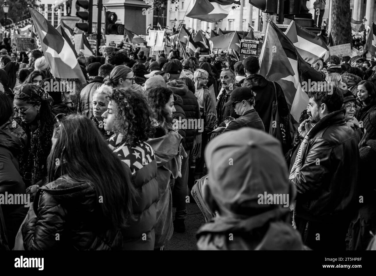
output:
[[[296,190],[288,182],[279,141],[254,128],[229,131],[209,142],[205,160],[203,200],[216,216],[197,232],[199,250],[305,249],[289,223]],[[285,198],[266,204],[264,195],[273,194]]]

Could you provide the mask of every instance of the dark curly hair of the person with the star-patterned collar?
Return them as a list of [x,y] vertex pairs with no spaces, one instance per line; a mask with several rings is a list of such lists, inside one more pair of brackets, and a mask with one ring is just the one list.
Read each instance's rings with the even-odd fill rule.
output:
[[115,133],[121,133],[130,146],[149,139],[154,132],[150,117],[152,110],[143,95],[132,89],[115,88],[110,100],[118,105]]

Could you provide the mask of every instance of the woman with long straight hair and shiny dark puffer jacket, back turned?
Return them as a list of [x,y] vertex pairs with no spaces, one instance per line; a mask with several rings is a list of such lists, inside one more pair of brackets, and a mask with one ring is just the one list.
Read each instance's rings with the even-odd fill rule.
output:
[[48,184],[22,226],[25,249],[123,249],[136,194],[129,168],[85,116],[59,119],[50,140]]

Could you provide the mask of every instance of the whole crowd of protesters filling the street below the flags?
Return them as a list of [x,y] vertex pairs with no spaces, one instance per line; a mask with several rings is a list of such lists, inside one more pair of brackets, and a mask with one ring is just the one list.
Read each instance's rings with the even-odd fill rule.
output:
[[[270,135],[274,101],[286,125],[291,106],[258,74],[257,57],[153,59],[105,47],[77,58],[86,83],[73,80],[73,92],[47,89],[68,80],[52,75],[40,50],[9,51],[0,50],[0,194],[27,193],[32,203],[0,205],[2,249],[164,250],[186,231],[187,202],[205,217],[203,250],[370,244],[374,60],[313,64],[327,87],[308,91],[282,148]],[[260,204],[264,193],[290,199]]]

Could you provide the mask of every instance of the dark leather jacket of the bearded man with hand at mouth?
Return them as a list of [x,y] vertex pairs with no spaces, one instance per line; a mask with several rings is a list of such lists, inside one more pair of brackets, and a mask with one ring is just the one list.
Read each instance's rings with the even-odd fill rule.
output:
[[[308,133],[297,187],[296,216],[316,222],[349,219],[358,196],[358,137],[345,123],[346,110],[322,118]],[[319,162],[319,163],[318,163]]]

